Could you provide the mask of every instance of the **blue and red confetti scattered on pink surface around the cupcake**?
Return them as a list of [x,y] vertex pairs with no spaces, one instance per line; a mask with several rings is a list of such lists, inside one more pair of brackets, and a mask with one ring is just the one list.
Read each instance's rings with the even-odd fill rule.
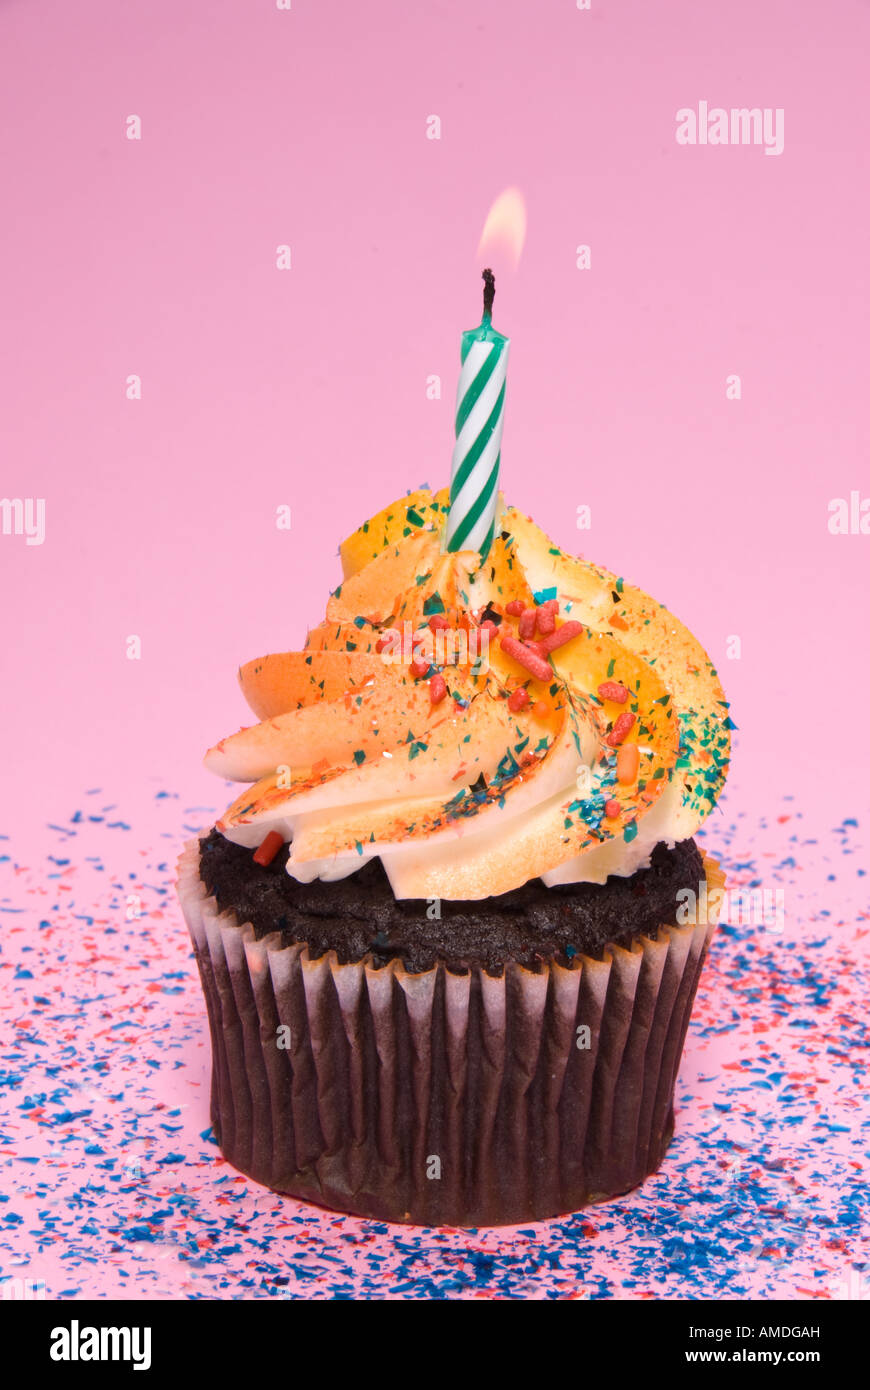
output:
[[573,1216],[477,1232],[325,1212],[221,1158],[174,897],[214,808],[161,791],[131,826],[92,790],[39,853],[4,835],[0,1282],[68,1300],[870,1297],[862,827],[810,831],[789,799],[753,820],[737,801],[700,838],[756,897],[716,933],[662,1170]]

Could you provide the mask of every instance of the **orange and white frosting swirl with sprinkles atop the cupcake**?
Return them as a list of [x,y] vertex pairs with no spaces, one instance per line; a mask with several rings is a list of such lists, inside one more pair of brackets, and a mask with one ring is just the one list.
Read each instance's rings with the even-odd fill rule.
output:
[[724,781],[709,657],[513,507],[485,560],[442,553],[446,509],[420,491],[366,523],[304,651],[242,667],[261,721],[206,766],[253,785],[218,830],[252,847],[277,830],[303,881],[377,855],[397,898],[634,873]]

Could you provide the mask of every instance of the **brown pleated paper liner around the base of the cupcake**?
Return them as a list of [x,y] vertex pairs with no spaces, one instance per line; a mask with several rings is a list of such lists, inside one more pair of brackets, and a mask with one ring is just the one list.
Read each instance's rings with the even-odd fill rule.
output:
[[[724,874],[705,858],[707,888]],[[211,1029],[211,1123],[256,1182],[336,1211],[500,1226],[630,1191],[674,1131],[713,924],[500,979],[310,959],[178,865]]]

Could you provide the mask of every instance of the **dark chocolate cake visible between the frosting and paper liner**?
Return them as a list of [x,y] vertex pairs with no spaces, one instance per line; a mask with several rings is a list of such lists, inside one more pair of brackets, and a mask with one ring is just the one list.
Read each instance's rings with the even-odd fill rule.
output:
[[685,840],[656,845],[649,869],[627,878],[553,888],[532,878],[482,903],[443,899],[439,916],[429,916],[425,899],[393,898],[378,859],[335,883],[299,883],[286,872],[288,856],[285,845],[270,865],[257,865],[213,830],[200,841],[200,874],[221,912],[250,922],[257,938],[281,931],[284,945],[306,942],[313,959],[335,951],[342,965],[400,960],[410,974],[442,962],[457,974],[479,966],[499,976],[506,960],[536,970],[545,959],[568,965],[613,942],[655,940],[663,922],[675,920],[680,890],[698,892],[705,876],[695,841]]

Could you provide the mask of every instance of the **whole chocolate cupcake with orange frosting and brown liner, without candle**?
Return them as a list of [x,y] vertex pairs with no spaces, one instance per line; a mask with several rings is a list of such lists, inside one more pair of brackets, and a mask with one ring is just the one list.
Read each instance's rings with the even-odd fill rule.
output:
[[443,553],[446,510],[366,523],[304,649],[242,667],[260,723],[206,764],[247,785],[178,891],[227,1159],[343,1212],[507,1225],[662,1163],[731,723],[662,605],[503,505],[484,560]]

